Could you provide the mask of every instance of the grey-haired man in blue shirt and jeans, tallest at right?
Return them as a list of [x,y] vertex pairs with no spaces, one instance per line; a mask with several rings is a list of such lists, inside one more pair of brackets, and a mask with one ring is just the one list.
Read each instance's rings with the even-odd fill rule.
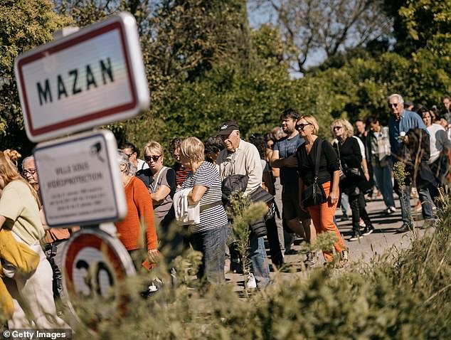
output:
[[[391,117],[388,119],[391,156],[393,162],[405,161],[406,150],[403,144],[405,134],[409,129],[413,128],[424,129],[426,132],[428,132],[428,129],[426,129],[420,115],[412,111],[404,110],[404,100],[400,95],[390,95],[387,102],[391,111]],[[398,233],[405,233],[413,229],[412,210],[410,209],[410,180],[406,181],[403,193],[399,192],[396,181],[395,188],[399,195],[401,218],[403,220],[403,225],[396,231]]]

